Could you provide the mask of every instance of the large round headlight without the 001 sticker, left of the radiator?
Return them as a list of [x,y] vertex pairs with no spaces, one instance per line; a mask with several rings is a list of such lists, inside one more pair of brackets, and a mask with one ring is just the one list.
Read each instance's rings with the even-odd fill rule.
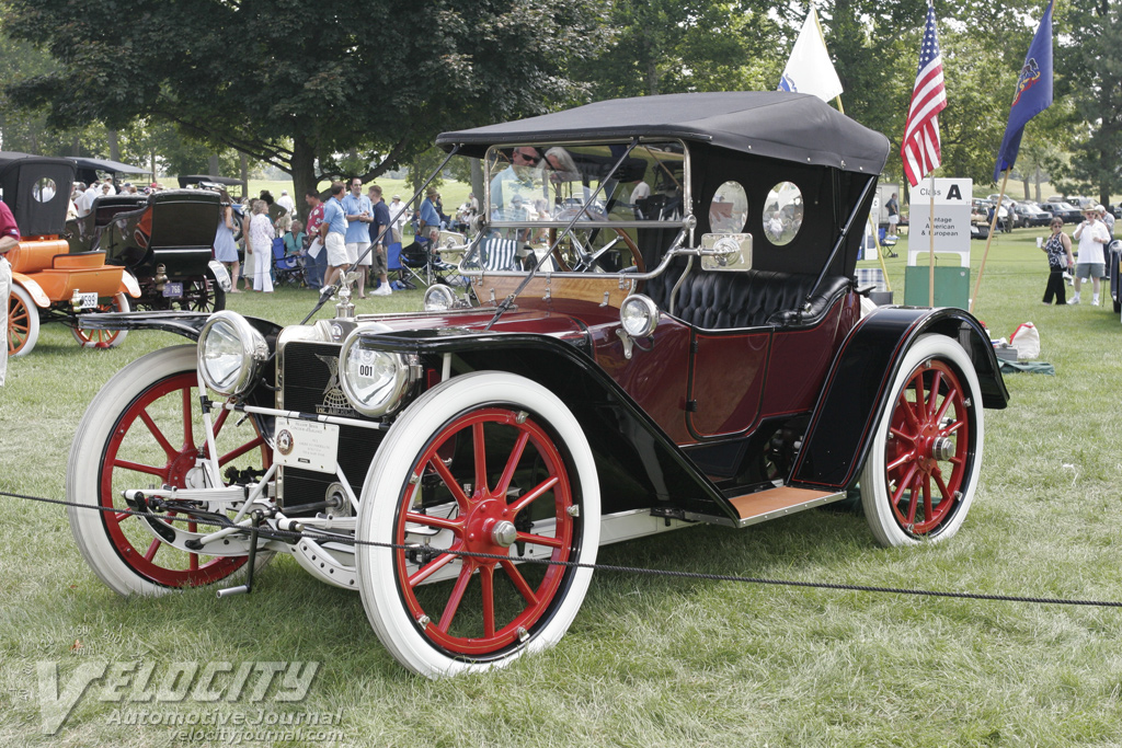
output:
[[212,314],[199,335],[199,370],[219,395],[241,395],[268,358],[265,338],[236,312]]

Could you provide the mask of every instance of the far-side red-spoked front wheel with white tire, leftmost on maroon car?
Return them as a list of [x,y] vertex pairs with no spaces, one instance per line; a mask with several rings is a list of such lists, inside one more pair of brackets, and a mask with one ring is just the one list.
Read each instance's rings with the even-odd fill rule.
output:
[[[213,416],[220,465],[267,468],[272,451],[254,422],[239,427],[227,413]],[[208,487],[200,464],[206,455],[193,345],[138,359],[90,404],[71,449],[67,496],[114,511],[71,507],[67,514],[82,555],[105,584],[121,594],[155,594],[211,584],[245,565],[245,556],[176,548],[157,537],[149,520],[122,511],[129,509],[127,489]],[[159,524],[165,533],[210,532],[194,523]]]

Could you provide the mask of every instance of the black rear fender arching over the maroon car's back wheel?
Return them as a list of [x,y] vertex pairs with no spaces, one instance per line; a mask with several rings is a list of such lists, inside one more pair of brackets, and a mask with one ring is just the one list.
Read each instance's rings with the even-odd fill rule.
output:
[[973,315],[954,307],[882,307],[849,332],[835,358],[791,470],[792,484],[840,490],[856,483],[904,353],[927,333],[954,338],[963,347],[984,407],[1009,404],[990,336]]

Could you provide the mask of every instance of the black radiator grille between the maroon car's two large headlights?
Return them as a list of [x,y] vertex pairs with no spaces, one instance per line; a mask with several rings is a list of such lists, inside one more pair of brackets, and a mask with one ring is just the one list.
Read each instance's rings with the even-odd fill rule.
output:
[[[358,417],[338,389],[339,349],[340,345],[335,343],[306,341],[285,345],[280,354],[280,407],[302,413]],[[339,427],[339,467],[347,475],[355,496],[362,492],[366,471],[381,443],[383,434],[384,432],[370,428]],[[301,505],[323,501],[328,487],[337,480],[334,475],[300,468],[279,470],[277,501],[288,516],[300,516]]]

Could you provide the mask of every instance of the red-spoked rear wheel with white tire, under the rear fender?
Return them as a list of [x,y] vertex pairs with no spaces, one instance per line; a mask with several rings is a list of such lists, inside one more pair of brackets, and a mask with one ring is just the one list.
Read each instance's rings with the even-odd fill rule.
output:
[[865,516],[885,546],[954,535],[982,464],[982,401],[966,352],[942,335],[909,349],[861,478]]

